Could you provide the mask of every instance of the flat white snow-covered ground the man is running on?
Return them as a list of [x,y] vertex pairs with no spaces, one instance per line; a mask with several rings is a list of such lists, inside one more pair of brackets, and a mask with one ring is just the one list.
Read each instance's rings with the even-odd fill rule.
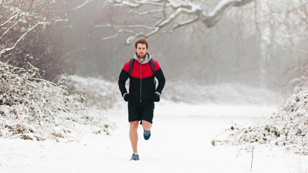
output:
[[139,161],[129,161],[132,150],[123,101],[102,112],[113,124],[110,135],[96,135],[80,127],[78,141],[68,143],[0,138],[0,172],[284,173],[308,170],[308,156],[278,147],[213,147],[211,144],[232,122],[263,123],[277,111],[277,105],[192,105],[161,100],[155,106],[148,141],[143,139],[139,127]]

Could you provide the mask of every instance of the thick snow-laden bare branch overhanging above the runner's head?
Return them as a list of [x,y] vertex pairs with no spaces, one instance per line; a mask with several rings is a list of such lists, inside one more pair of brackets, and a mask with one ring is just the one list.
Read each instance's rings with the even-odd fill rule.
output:
[[[88,3],[97,0],[86,0],[83,4],[75,9],[81,8]],[[244,6],[255,0],[221,0],[216,4],[215,8],[208,12],[208,7],[203,6],[204,2],[193,3],[193,1],[172,1],[172,0],[107,0],[105,6],[113,7],[130,7],[132,10],[128,15],[136,15],[142,17],[144,15],[152,15],[154,19],[147,24],[136,23],[116,25],[114,23],[104,23],[96,25],[96,27],[110,27],[115,31],[114,35],[101,38],[102,40],[115,38],[120,33],[129,33],[126,43],[130,44],[136,37],[149,37],[156,33],[172,33],[177,28],[189,25],[193,22],[201,21],[206,27],[213,27],[221,16],[232,6]],[[139,10],[139,11],[137,11]]]

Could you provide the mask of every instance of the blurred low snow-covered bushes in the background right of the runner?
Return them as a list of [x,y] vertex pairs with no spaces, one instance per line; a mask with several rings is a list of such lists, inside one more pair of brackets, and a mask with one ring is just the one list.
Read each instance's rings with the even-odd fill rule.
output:
[[[192,82],[193,83],[193,82]],[[162,97],[174,102],[218,104],[263,104],[277,102],[273,91],[237,82],[200,85],[189,82],[166,82]]]

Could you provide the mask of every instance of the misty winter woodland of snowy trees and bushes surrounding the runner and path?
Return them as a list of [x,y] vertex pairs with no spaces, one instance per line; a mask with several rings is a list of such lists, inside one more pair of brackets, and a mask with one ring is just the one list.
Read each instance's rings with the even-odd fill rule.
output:
[[0,139],[112,134],[103,114],[124,102],[120,71],[146,38],[164,101],[277,105],[262,123],[232,122],[212,147],[308,155],[307,16],[307,0],[0,0]]

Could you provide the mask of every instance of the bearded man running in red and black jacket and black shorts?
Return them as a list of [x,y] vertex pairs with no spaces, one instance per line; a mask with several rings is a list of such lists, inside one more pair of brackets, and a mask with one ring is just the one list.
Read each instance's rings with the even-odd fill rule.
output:
[[[165,77],[160,65],[151,59],[146,39],[137,40],[134,59],[132,59],[132,63],[128,61],[124,64],[118,81],[121,94],[128,102],[129,139],[133,150],[131,160],[139,160],[137,151],[139,121],[144,129],[143,137],[148,140],[151,136],[154,102],[160,101],[160,94],[165,86]],[[157,88],[155,88],[154,77],[158,80]],[[129,92],[125,87],[128,78],[130,78]]]

